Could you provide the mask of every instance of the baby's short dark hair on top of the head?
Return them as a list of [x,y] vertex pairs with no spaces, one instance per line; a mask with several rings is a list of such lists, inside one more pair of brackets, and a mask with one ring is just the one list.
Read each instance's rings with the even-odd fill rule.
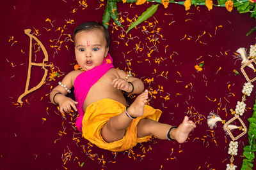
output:
[[104,36],[106,38],[107,41],[107,46],[109,46],[109,34],[108,34],[108,30],[104,27],[104,25],[100,24],[99,22],[84,22],[83,24],[79,25],[76,27],[75,31],[74,31],[74,41],[75,41],[75,36],[78,32],[80,31],[91,31],[93,29],[100,29],[103,33]]

